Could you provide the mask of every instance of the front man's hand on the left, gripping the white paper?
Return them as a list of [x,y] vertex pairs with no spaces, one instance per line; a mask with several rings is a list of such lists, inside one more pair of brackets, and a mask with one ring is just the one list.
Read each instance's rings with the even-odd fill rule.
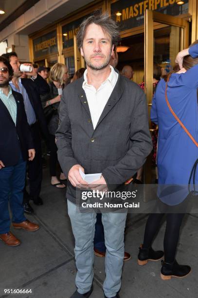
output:
[[80,176],[79,168],[85,172],[84,168],[80,165],[74,165],[69,171],[68,179],[74,187],[88,188],[88,183]]

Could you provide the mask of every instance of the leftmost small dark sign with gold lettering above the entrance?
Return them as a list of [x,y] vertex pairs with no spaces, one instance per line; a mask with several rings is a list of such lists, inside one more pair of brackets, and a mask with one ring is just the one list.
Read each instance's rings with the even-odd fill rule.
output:
[[56,30],[33,40],[34,58],[50,55],[58,51]]

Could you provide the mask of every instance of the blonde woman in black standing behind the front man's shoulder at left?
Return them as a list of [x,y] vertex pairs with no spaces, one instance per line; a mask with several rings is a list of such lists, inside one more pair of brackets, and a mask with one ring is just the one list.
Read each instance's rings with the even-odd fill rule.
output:
[[[58,128],[58,108],[61,100],[62,90],[67,83],[69,77],[67,66],[62,63],[55,63],[50,70],[50,98],[51,100],[46,101],[45,107],[50,105],[54,108],[54,113],[48,124],[48,129],[50,132],[50,175],[51,175],[51,185],[57,188],[64,188],[64,180],[66,177],[61,170],[60,179],[56,175],[56,164],[57,164],[57,147],[55,145],[55,131]],[[57,100],[58,99],[58,100]],[[55,102],[54,102],[55,100]],[[61,182],[60,182],[61,181]]]

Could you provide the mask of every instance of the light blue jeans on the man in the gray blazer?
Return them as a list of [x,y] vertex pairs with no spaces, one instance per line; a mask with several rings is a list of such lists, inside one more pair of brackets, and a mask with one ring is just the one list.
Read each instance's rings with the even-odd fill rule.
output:
[[[75,284],[80,294],[90,291],[93,281],[93,239],[95,233],[96,213],[80,213],[75,204],[68,202],[68,214],[72,223],[75,238],[75,263],[77,274]],[[116,295],[121,287],[121,275],[124,260],[124,232],[127,213],[103,213],[102,223],[107,248],[105,258],[106,278],[103,283],[105,295],[110,298]]]

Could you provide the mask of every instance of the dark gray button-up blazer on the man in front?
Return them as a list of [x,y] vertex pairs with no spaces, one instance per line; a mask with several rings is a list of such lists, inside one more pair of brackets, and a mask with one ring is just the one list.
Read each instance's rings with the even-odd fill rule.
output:
[[[63,91],[56,131],[58,160],[66,176],[80,164],[85,173],[101,173],[108,185],[123,184],[141,168],[152,149],[144,92],[118,76],[95,130],[84,78]],[[75,203],[75,187],[68,182],[67,198]]]

